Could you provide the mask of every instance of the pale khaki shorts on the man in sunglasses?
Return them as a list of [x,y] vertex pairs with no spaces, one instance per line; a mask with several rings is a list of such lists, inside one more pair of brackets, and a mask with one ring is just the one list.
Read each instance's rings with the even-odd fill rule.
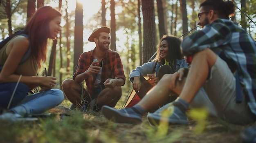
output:
[[[236,79],[227,63],[218,57],[210,72],[209,79],[202,87],[206,93],[200,90],[194,100],[205,98],[207,94],[215,108],[211,110],[216,110],[218,117],[235,124],[254,123],[255,115],[249,109],[245,96],[242,103],[236,103]],[[202,104],[202,101],[198,101],[194,103]],[[209,103],[208,107],[212,108],[212,105]]]

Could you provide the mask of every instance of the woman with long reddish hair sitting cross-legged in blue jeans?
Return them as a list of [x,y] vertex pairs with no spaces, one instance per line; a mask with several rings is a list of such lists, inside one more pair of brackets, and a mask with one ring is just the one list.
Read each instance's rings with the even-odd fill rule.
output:
[[[45,62],[47,42],[61,31],[61,13],[41,7],[25,29],[0,43],[0,108],[9,109],[0,120],[19,121],[41,114],[64,100],[61,90],[52,89],[56,77],[36,76],[40,62]],[[40,87],[40,92],[28,92]]]

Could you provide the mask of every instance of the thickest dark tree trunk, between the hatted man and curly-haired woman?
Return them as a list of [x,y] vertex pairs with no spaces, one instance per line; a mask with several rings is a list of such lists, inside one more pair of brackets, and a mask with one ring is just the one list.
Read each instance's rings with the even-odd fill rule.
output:
[[141,0],[141,6],[143,15],[142,62],[146,63],[156,51],[154,0]]

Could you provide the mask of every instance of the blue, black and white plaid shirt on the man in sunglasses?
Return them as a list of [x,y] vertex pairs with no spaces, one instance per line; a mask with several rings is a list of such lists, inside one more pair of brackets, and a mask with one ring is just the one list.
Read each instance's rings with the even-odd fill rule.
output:
[[256,42],[253,38],[234,22],[218,19],[182,42],[184,55],[193,55],[206,48],[211,48],[218,55],[225,55],[226,58],[222,59],[226,62],[231,59],[235,63],[238,72],[236,80],[244,86],[243,95],[249,108],[256,114]]

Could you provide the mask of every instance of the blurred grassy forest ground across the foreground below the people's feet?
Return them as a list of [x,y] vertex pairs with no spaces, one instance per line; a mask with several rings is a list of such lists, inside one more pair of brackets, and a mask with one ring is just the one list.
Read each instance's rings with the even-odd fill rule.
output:
[[[67,100],[61,103],[70,104]],[[245,128],[213,117],[204,121],[189,118],[189,125],[155,128],[148,124],[146,115],[141,124],[130,125],[113,123],[91,110],[82,113],[53,108],[48,112],[52,116],[34,122],[0,121],[0,143],[240,143],[239,134]],[[61,116],[64,113],[70,116]],[[202,125],[200,132],[195,131],[198,125]]]

